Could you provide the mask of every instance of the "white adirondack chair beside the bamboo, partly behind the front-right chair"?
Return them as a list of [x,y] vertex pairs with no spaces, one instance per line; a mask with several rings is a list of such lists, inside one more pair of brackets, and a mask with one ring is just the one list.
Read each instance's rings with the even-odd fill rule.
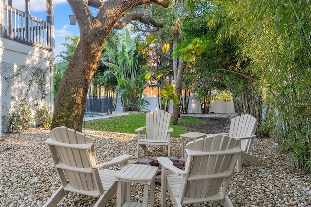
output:
[[[229,133],[223,133],[241,142],[241,155],[237,161],[237,171],[241,171],[241,158],[256,165],[261,166],[261,162],[250,155],[253,138],[256,137],[257,120],[250,114],[242,114],[231,119]],[[207,135],[208,136],[208,135]]]

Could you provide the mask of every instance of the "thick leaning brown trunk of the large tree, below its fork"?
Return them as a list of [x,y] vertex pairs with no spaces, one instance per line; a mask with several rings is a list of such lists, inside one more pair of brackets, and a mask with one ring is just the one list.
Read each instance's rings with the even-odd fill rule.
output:
[[88,88],[102,51],[102,45],[86,47],[82,38],[58,89],[52,129],[66,126],[76,131],[82,130]]

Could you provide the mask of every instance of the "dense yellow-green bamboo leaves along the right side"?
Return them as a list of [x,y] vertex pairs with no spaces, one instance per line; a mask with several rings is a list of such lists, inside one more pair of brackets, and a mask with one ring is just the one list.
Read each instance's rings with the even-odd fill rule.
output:
[[221,35],[236,37],[249,71],[258,77],[265,104],[261,126],[291,151],[299,167],[311,171],[310,7],[311,1],[227,1]]

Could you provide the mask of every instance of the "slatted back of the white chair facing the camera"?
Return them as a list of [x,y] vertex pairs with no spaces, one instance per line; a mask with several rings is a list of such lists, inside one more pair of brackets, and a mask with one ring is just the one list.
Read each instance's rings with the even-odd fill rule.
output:
[[146,114],[146,139],[166,140],[170,128],[171,114],[155,110]]

